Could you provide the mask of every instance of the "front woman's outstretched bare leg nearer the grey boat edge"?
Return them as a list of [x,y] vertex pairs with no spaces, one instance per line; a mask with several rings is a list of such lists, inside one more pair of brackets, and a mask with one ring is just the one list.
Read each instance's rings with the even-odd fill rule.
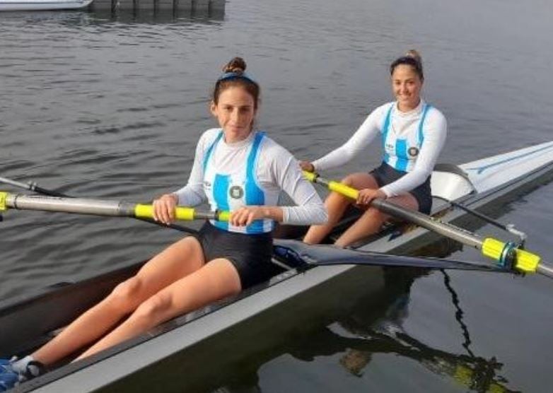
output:
[[79,359],[146,332],[177,315],[238,293],[240,289],[240,277],[233,264],[228,259],[214,259],[146,300],[129,319],[88,348]]

